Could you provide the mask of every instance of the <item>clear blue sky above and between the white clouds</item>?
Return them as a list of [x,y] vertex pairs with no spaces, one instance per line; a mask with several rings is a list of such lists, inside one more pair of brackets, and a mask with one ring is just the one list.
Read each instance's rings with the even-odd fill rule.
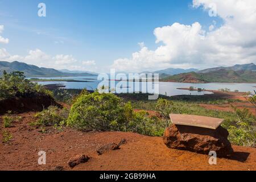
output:
[[[46,4],[46,17],[37,15],[40,2]],[[88,69],[101,72],[113,65],[114,60],[129,61],[141,49],[139,42],[153,51],[161,46],[163,42],[155,43],[155,28],[176,22],[190,26],[199,22],[201,29],[208,31],[213,22],[217,28],[222,25],[222,18],[210,17],[203,7],[192,5],[192,0],[1,0],[0,25],[4,30],[0,35],[8,38],[9,43],[0,44],[0,48],[20,57],[36,49],[51,58],[69,55],[76,60],[77,67],[67,64],[60,68],[79,69],[81,61],[89,61]],[[92,61],[95,64],[90,65]],[[50,62],[39,62],[35,64],[53,67]],[[194,64],[184,64],[184,68],[189,66]],[[154,69],[154,65],[148,69]]]

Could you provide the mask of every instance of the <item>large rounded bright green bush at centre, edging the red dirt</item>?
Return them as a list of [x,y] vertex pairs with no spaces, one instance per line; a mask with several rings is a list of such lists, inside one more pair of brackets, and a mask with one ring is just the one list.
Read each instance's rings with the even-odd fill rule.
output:
[[81,94],[72,105],[67,125],[79,130],[126,130],[131,107],[112,93]]

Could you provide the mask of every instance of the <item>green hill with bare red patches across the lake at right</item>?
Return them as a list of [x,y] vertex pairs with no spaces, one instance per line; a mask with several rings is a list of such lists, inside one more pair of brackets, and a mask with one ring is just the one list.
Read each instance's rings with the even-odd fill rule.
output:
[[256,72],[249,70],[233,71],[220,69],[208,73],[182,73],[179,75],[168,76],[160,81],[168,82],[189,82],[189,83],[207,83],[207,82],[256,82]]

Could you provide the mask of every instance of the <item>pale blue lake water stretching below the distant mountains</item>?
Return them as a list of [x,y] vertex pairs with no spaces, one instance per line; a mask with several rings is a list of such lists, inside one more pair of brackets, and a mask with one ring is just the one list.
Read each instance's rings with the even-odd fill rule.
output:
[[[40,79],[62,79],[62,80],[80,80],[80,81],[89,81],[89,82],[65,82],[65,81],[47,81],[47,82],[38,82],[42,85],[48,85],[48,84],[61,84],[65,85],[65,88],[67,89],[83,89],[86,88],[88,90],[95,90],[97,89],[98,84],[101,81],[97,80],[97,76],[86,76],[86,77],[52,77],[52,78],[43,78],[40,77]],[[119,81],[115,81],[116,84]],[[134,85],[136,82],[126,82],[121,81],[124,85],[129,84]],[[138,83],[138,82],[137,82]],[[142,88],[142,83],[140,82],[140,91]],[[190,86],[193,86],[194,88],[201,88],[201,89],[207,89],[207,90],[218,90],[218,89],[225,89],[228,88],[231,91],[239,90],[240,92],[253,92],[256,90],[254,86],[256,84],[237,84],[237,83],[207,83],[207,84],[191,84],[191,83],[178,83],[178,82],[159,82],[155,83],[154,85],[159,84],[159,93],[160,94],[166,94],[167,96],[178,96],[178,95],[204,95],[204,94],[211,94],[211,92],[197,92],[197,91],[189,91],[189,90],[180,90],[177,88],[189,88]],[[125,89],[125,88],[123,88]],[[129,88],[126,88],[129,89]],[[151,93],[151,92],[148,92]]]

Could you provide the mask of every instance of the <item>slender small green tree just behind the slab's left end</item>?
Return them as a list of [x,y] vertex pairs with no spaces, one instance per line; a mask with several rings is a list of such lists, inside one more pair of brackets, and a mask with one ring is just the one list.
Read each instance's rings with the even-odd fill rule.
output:
[[173,105],[172,101],[168,101],[163,98],[159,98],[158,104],[156,105],[156,108],[160,111],[160,113],[163,116],[163,120],[166,119],[166,127],[169,126],[170,117],[169,114],[171,113],[171,107]]

